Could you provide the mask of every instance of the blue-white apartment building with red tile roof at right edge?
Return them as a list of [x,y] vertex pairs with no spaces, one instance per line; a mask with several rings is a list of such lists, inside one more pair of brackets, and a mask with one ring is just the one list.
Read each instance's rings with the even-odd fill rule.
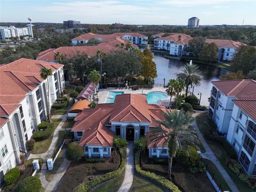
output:
[[208,116],[227,133],[244,171],[256,175],[256,81],[250,79],[212,82]]

